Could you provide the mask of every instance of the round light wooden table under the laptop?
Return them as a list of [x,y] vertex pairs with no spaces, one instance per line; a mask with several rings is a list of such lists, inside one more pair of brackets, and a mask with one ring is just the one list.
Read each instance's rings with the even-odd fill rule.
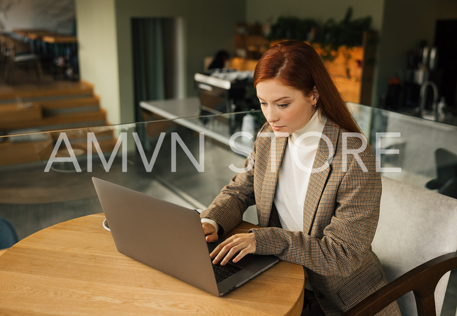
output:
[[[300,315],[303,267],[280,261],[221,297],[117,252],[103,213],[24,238],[0,256],[1,315]],[[230,234],[247,232],[243,222]]]

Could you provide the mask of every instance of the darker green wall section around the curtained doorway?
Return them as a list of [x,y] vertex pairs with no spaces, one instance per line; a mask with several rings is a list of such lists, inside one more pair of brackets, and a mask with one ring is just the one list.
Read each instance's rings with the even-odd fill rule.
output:
[[116,30],[121,122],[133,121],[131,18],[181,17],[184,26],[186,95],[195,95],[193,76],[203,57],[218,49],[234,51],[235,23],[245,21],[246,0],[116,0]]

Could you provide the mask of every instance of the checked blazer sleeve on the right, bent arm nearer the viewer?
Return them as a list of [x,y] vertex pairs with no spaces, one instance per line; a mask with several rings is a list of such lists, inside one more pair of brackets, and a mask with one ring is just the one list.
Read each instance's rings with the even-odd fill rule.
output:
[[354,158],[348,159],[335,197],[335,212],[322,238],[282,228],[251,229],[255,253],[274,254],[327,276],[349,276],[360,267],[371,249],[382,191],[375,157],[360,157],[368,171],[364,172]]

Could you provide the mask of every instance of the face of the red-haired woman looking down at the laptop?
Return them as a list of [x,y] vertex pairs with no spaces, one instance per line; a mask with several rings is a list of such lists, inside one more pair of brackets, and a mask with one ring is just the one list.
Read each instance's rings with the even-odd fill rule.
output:
[[305,126],[313,116],[314,104],[319,98],[316,87],[309,97],[305,97],[301,91],[273,79],[261,81],[255,88],[263,115],[279,137],[284,135],[278,133],[291,135]]

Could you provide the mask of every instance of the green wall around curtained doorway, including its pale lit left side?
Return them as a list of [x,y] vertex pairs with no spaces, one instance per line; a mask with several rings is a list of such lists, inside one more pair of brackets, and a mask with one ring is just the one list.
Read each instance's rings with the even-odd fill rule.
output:
[[132,18],[181,17],[185,96],[203,58],[233,54],[235,23],[246,20],[246,0],[76,0],[81,79],[94,84],[112,124],[134,121]]

